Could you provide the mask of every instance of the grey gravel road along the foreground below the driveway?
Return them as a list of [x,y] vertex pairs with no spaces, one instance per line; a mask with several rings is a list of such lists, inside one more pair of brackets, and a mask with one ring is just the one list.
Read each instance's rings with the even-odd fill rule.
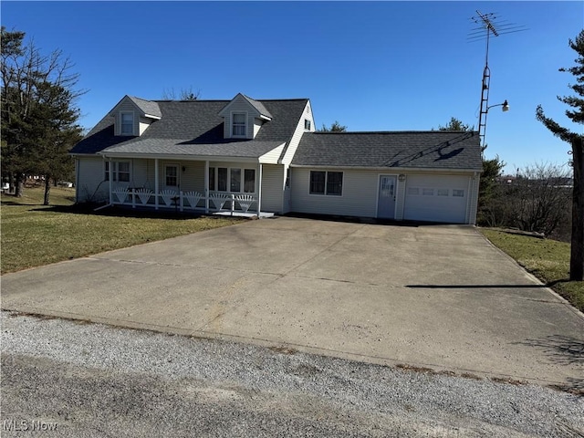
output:
[[7,312],[1,372],[3,437],[584,436],[549,388]]

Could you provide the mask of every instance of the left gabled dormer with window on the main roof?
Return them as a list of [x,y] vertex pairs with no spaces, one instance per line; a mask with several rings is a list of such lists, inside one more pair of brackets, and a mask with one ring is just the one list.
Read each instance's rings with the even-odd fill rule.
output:
[[151,100],[124,96],[110,111],[114,118],[114,135],[140,136],[155,120],[161,120],[158,103]]

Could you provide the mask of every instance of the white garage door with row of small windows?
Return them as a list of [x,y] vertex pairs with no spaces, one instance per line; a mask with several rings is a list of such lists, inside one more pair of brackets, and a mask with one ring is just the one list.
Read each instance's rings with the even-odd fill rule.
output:
[[464,224],[468,176],[408,175],[403,218]]

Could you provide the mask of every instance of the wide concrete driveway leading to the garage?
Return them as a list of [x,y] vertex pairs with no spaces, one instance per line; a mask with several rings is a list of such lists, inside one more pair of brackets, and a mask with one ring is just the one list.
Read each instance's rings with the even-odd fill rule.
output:
[[2,308],[584,388],[584,317],[473,227],[279,217],[2,277]]

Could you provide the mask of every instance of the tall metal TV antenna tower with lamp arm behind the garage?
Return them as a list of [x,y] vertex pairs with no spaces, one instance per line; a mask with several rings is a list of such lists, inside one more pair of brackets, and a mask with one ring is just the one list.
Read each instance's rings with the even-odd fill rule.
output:
[[494,12],[482,14],[477,10],[476,14],[476,16],[471,17],[471,20],[475,25],[478,25],[478,27],[474,27],[466,39],[468,42],[486,40],[485,69],[483,70],[483,85],[481,87],[481,112],[478,118],[478,135],[481,139],[481,147],[485,150],[486,114],[488,113],[489,108],[501,106],[504,111],[509,110],[507,101],[489,107],[489,89],[491,82],[491,69],[489,68],[489,41],[491,36],[501,36],[521,32],[527,30],[527,28],[525,26],[517,25],[516,23],[510,23],[507,20],[501,20],[498,17],[498,14],[495,14]]

